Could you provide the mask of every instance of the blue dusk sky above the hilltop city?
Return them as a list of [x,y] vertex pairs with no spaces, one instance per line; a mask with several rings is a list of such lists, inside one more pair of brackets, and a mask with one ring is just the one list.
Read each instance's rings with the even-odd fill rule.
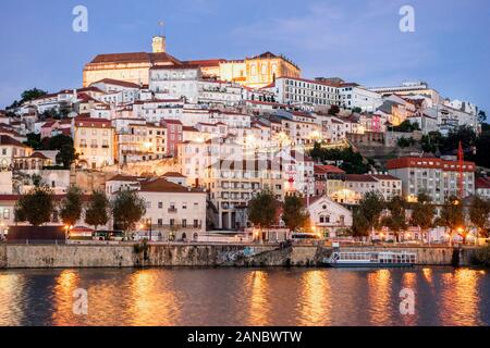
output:
[[[88,33],[72,10],[88,9]],[[399,29],[402,5],[415,33]],[[157,22],[181,60],[237,59],[270,50],[304,77],[365,86],[422,79],[490,112],[488,0],[15,0],[1,1],[0,108],[21,91],[78,87],[97,53],[149,51]]]

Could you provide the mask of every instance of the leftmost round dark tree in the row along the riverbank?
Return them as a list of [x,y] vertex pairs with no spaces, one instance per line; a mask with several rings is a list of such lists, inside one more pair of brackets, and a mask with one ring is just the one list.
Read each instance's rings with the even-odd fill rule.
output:
[[40,226],[51,221],[54,211],[52,191],[46,186],[34,187],[23,195],[15,204],[14,220]]

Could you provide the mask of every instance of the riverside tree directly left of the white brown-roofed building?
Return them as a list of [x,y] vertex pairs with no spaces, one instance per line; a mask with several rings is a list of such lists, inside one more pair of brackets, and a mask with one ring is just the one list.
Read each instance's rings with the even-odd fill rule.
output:
[[146,202],[136,191],[119,191],[112,201],[112,215],[115,225],[124,231],[126,238],[131,229],[146,214]]

